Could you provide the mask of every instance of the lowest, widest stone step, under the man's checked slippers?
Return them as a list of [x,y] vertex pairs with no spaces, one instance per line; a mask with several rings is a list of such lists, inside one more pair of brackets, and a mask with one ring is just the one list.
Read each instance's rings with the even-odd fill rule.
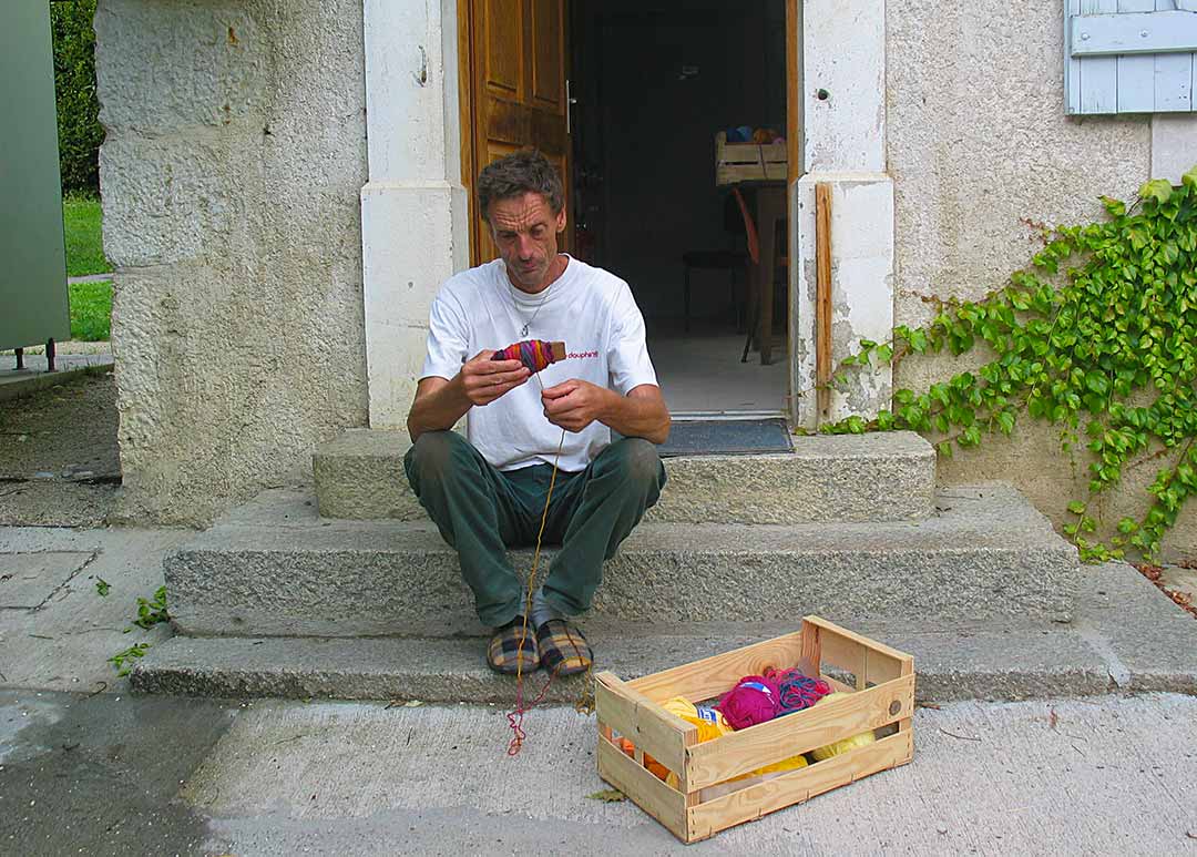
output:
[[[843,622],[915,656],[920,700],[1050,699],[1110,692],[1197,694],[1197,621],[1124,564],[1086,569],[1071,624]],[[797,630],[774,624],[583,622],[596,668],[634,679]],[[510,705],[514,681],[484,664],[485,638],[193,638],[154,646],[133,689],[211,697],[415,699]],[[545,673],[531,687],[537,692]],[[582,680],[547,701],[569,704]]]

